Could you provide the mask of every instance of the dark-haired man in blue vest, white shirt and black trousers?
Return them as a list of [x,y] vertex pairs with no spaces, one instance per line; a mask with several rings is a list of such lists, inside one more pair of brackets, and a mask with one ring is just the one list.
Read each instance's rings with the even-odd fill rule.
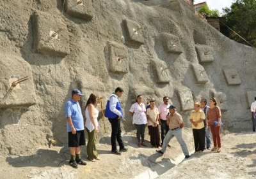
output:
[[[124,119],[121,103],[119,97],[122,96],[124,90],[120,87],[116,88],[115,92],[109,97],[105,116],[108,117],[109,122],[111,123],[111,145],[112,145],[112,154],[121,155],[120,152],[127,152],[128,148],[124,147],[121,136],[121,123],[120,119]],[[116,148],[116,140],[119,144],[119,151]]]

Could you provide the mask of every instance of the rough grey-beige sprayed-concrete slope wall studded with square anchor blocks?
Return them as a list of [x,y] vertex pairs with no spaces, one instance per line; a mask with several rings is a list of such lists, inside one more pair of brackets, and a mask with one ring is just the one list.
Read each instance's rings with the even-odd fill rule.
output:
[[223,36],[183,0],[77,2],[0,1],[1,154],[67,142],[64,106],[76,88],[84,108],[92,92],[122,87],[125,132],[135,129],[129,108],[138,94],[158,105],[170,97],[185,127],[195,101],[216,97],[223,132],[251,130],[255,48]]

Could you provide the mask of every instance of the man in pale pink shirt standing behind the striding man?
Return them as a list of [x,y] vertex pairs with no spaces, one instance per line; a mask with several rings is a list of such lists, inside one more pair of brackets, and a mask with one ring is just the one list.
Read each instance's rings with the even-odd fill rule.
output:
[[[167,132],[169,131],[169,126],[166,124],[166,116],[168,115],[168,108],[170,107],[170,104],[168,104],[169,98],[167,96],[163,97],[163,104],[158,106],[159,111],[159,125],[161,125],[161,145],[163,146],[164,137],[166,136]],[[170,145],[168,144],[168,147]]]

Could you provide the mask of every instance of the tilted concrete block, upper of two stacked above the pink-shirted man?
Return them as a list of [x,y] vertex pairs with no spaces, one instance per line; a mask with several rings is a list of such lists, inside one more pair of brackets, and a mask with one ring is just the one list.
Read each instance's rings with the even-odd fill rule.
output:
[[182,54],[183,50],[178,36],[162,33],[161,41],[166,53]]

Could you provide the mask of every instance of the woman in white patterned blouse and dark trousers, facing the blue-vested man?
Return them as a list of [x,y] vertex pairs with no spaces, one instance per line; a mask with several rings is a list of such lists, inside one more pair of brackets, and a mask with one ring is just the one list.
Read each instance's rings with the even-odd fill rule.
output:
[[[147,116],[145,114],[146,108],[142,102],[142,96],[137,96],[136,103],[132,104],[131,109],[129,111],[130,115],[132,116],[132,124],[135,124],[137,129],[137,139],[138,139],[138,147],[141,145],[147,147],[144,141],[145,136],[145,127],[148,123]],[[141,142],[140,142],[141,138]]]

